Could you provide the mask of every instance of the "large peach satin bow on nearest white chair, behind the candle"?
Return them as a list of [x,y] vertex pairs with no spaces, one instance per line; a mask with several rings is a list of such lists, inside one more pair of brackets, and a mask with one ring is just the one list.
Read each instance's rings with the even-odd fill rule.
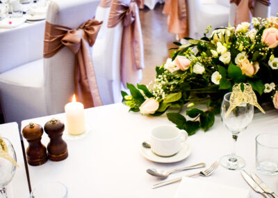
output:
[[102,105],[92,64],[90,47],[94,45],[102,22],[95,19],[81,24],[78,29],[46,22],[44,58],[50,58],[67,46],[75,54],[74,84],[77,99],[85,108]]

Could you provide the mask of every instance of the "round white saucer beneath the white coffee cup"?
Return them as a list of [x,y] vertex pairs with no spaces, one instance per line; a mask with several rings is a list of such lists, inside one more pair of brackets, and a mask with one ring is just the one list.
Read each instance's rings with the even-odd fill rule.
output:
[[172,155],[170,157],[161,157],[154,154],[151,148],[145,148],[141,144],[141,153],[145,158],[153,162],[172,163],[179,162],[187,158],[191,153],[191,146],[187,142],[181,142],[181,150],[177,154]]

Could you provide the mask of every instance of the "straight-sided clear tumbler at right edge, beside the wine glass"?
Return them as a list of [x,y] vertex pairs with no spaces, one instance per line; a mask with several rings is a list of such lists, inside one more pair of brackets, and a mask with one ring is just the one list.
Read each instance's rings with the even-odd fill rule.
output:
[[278,174],[278,134],[262,133],[257,135],[256,169],[262,174]]

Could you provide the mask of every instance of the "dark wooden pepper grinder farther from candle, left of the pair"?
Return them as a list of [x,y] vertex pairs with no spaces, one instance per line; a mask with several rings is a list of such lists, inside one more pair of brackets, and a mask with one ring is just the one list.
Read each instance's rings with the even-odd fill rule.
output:
[[40,166],[47,162],[47,148],[40,142],[42,134],[42,126],[35,123],[29,123],[22,130],[22,135],[29,144],[26,149],[29,165]]

